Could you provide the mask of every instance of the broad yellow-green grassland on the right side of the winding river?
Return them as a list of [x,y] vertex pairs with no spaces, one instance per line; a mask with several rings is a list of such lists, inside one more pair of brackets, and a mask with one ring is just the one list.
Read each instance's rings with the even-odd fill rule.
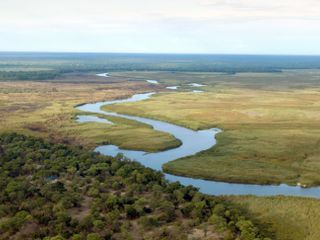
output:
[[319,89],[293,87],[294,82],[284,87],[287,81],[277,89],[213,87],[207,81],[206,93],[159,94],[105,109],[223,130],[216,147],[167,163],[168,172],[229,182],[320,185]]

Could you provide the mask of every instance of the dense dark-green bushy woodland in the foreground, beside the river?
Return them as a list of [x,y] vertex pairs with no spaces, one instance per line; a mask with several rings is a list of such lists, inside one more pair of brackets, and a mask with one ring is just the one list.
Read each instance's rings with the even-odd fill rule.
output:
[[237,206],[122,156],[0,136],[0,239],[188,239],[196,228],[267,239]]

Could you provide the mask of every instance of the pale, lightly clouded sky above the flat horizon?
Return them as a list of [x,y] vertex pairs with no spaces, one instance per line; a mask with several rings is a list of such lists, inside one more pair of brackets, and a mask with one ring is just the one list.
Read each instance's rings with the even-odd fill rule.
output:
[[320,55],[320,0],[0,0],[0,51]]

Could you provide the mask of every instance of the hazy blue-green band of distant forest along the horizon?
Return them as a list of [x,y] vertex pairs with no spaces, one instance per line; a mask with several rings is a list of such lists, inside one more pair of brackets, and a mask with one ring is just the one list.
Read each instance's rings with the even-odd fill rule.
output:
[[[1,68],[21,67],[21,71]],[[23,67],[53,71],[23,71]],[[320,69],[317,56],[174,55],[98,53],[0,53],[0,79],[52,79],[70,72],[176,71],[281,72],[284,69]]]

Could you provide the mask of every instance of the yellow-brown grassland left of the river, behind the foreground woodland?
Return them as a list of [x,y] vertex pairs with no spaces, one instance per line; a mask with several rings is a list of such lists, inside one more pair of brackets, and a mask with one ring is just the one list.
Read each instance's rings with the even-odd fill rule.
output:
[[135,121],[110,118],[114,125],[75,121],[77,114],[84,113],[74,106],[146,91],[144,83],[75,83],[70,79],[69,83],[0,82],[0,89],[1,132],[16,131],[90,148],[109,143],[153,152],[180,145],[173,136]]

